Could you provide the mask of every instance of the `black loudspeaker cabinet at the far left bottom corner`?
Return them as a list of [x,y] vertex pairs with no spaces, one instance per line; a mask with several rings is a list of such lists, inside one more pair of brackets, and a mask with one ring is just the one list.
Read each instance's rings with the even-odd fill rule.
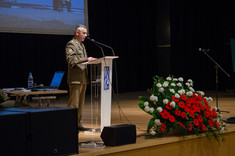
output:
[[0,155],[27,156],[26,113],[0,111]]

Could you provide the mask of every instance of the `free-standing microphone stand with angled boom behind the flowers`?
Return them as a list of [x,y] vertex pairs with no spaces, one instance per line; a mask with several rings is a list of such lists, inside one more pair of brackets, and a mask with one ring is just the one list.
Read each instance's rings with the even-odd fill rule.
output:
[[229,113],[229,111],[220,111],[219,109],[219,104],[218,104],[218,69],[221,69],[229,78],[230,75],[212,58],[210,57],[210,55],[207,54],[207,52],[209,51],[209,49],[202,49],[199,48],[199,51],[204,52],[204,54],[215,64],[215,83],[216,83],[216,107],[217,107],[217,112],[226,112]]

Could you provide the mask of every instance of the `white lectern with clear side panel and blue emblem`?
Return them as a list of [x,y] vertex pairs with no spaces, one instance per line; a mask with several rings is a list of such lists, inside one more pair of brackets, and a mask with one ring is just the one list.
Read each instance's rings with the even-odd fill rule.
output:
[[118,56],[105,56],[90,65],[92,131],[102,131],[111,123],[112,64]]

